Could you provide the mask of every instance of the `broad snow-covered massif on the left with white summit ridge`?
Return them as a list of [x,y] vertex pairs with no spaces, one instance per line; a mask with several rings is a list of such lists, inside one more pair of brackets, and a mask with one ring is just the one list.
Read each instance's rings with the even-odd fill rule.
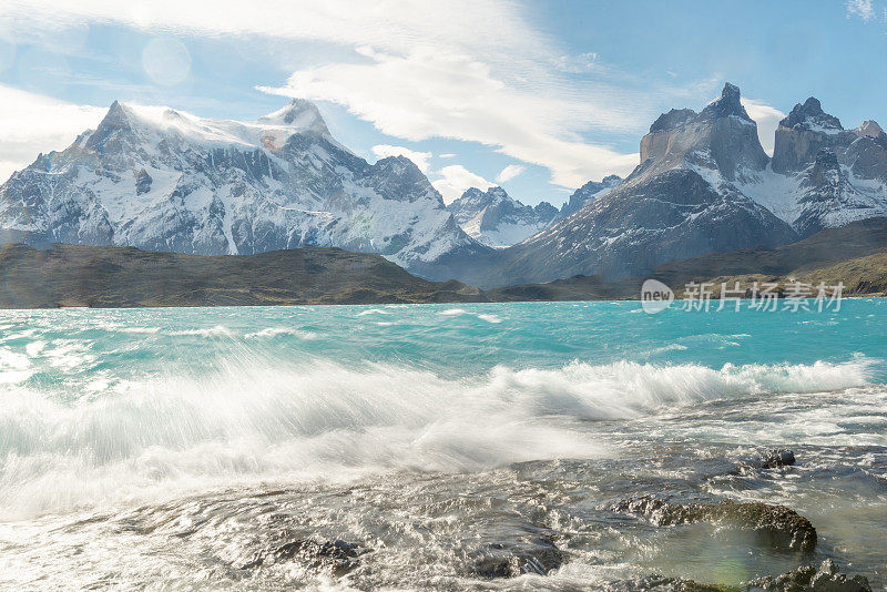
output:
[[487,251],[411,161],[367,163],[298,100],[252,123],[114,102],[96,130],[0,186],[0,238],[212,255],[338,246],[420,274]]

